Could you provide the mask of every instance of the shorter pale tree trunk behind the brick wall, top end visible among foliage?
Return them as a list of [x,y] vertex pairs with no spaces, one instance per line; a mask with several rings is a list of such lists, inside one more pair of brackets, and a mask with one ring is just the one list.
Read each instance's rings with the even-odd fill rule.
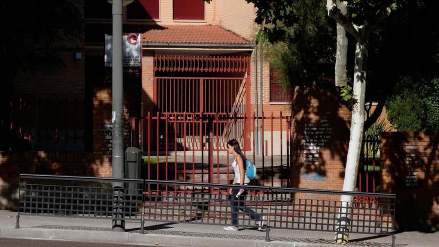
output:
[[[346,15],[347,2],[337,0],[337,7]],[[338,87],[346,86],[346,60],[348,53],[348,38],[345,28],[337,22],[337,53],[335,59],[335,85]]]

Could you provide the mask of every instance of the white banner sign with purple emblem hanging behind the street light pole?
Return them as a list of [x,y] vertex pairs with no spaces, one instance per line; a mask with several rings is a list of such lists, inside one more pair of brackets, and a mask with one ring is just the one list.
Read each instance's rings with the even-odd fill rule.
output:
[[[122,64],[124,67],[140,67],[142,60],[141,53],[142,38],[140,34],[129,33],[122,37]],[[113,64],[113,36],[105,34],[105,56],[106,67]]]

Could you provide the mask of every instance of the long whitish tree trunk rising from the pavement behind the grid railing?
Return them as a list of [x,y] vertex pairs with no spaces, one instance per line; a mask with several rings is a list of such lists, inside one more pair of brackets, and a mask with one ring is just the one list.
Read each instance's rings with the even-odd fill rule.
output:
[[[367,39],[365,39],[367,40]],[[367,41],[357,40],[355,45],[354,95],[357,103],[352,109],[351,136],[349,139],[343,191],[355,191],[358,166],[361,155],[364,128],[364,104],[367,73]],[[353,197],[343,195],[340,198],[340,214],[337,220],[335,241],[338,244],[349,242],[350,220]]]

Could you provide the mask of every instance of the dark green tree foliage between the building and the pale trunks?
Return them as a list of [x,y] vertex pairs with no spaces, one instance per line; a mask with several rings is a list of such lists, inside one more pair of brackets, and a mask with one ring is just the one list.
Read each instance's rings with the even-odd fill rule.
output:
[[[270,66],[281,72],[280,82],[286,90],[321,83],[325,78],[333,79],[335,21],[328,17],[325,2],[289,2],[288,7],[282,1],[270,4],[273,11],[288,12],[292,19],[279,20],[277,25],[267,23],[261,30],[259,41],[265,41],[264,55]],[[283,12],[282,6],[285,7]],[[262,21],[258,20],[259,17],[256,21]]]

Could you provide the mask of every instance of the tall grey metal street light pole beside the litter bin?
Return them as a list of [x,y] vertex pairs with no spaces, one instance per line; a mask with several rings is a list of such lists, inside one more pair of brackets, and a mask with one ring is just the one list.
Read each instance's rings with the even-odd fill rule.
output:
[[[122,67],[122,0],[113,0],[113,61],[112,61],[112,170],[113,178],[124,177],[123,150],[123,67]],[[124,184],[113,183],[113,231],[125,232]]]

